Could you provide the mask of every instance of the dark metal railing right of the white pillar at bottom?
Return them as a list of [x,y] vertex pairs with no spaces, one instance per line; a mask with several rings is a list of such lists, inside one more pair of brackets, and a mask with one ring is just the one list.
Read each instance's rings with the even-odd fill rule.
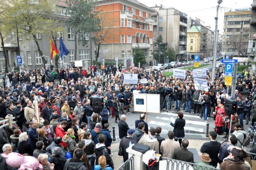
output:
[[[165,168],[166,167],[166,168]],[[170,158],[162,158],[159,162],[158,170],[220,170],[211,166],[203,166],[190,162],[174,160]]]

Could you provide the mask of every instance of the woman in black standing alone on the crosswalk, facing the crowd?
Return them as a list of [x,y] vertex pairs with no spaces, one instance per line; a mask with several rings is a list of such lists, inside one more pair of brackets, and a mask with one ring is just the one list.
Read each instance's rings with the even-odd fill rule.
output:
[[171,122],[171,126],[174,127],[174,137],[175,141],[179,140],[180,147],[181,147],[181,141],[182,138],[185,137],[185,132],[184,132],[184,126],[186,124],[185,119],[183,119],[183,113],[178,112],[178,118],[175,120],[174,124]]

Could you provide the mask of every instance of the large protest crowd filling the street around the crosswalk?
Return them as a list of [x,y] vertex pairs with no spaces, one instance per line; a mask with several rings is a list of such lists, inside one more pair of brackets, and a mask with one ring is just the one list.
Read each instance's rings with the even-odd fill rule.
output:
[[[112,170],[112,137],[108,119],[118,124],[120,145],[118,155],[128,160],[126,148],[130,144],[143,144],[165,158],[191,162],[222,170],[250,170],[250,156],[242,149],[245,138],[244,122],[256,122],[256,83],[254,75],[244,71],[239,76],[235,97],[237,110],[232,120],[225,115],[225,102],[231,87],[224,84],[224,68],[210,78],[207,72],[205,90],[199,90],[193,77],[194,70],[184,70],[184,76],[166,77],[160,70],[123,70],[122,66],[106,65],[97,68],[62,68],[53,66],[2,75],[0,86],[0,120],[10,114],[15,117],[12,128],[0,128],[0,169],[12,170],[34,166],[44,170]],[[124,74],[137,75],[136,84],[124,84]],[[132,78],[132,77],[130,77]],[[140,81],[146,79],[146,83]],[[177,113],[170,123],[168,139],[161,136],[161,127],[148,127],[145,114],[139,114],[136,129],[129,128],[126,120],[132,109],[133,91],[143,94],[160,94],[161,110]],[[229,93],[227,93],[227,91]],[[242,98],[242,94],[246,98]],[[103,109],[93,111],[92,97],[103,98]],[[153,101],[152,101],[153,102]],[[127,114],[124,114],[124,110]],[[182,111],[184,110],[184,111]],[[194,162],[187,147],[184,113],[200,116],[202,120],[215,120],[209,132],[209,142],[200,149],[200,162]],[[230,126],[232,121],[232,127]],[[231,134],[228,130],[231,128]],[[220,144],[218,135],[227,142]],[[135,145],[134,145],[135,146]],[[250,152],[256,153],[256,148]],[[19,162],[18,157],[33,156],[29,162]],[[10,161],[9,159],[13,159]],[[16,159],[17,158],[17,159]],[[30,157],[28,157],[30,158]],[[121,161],[121,160],[120,160]],[[30,167],[29,167],[30,166]],[[195,168],[194,168],[195,169]]]

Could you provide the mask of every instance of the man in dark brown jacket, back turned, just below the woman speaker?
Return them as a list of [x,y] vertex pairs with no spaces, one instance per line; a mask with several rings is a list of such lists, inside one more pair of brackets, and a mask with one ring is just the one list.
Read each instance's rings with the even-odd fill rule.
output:
[[183,139],[181,142],[181,148],[176,148],[172,154],[172,159],[194,163],[193,153],[188,151],[188,140]]

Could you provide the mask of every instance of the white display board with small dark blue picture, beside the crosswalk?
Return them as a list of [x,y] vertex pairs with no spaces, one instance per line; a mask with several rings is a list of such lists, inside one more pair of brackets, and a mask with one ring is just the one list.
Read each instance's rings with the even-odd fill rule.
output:
[[133,94],[134,112],[160,113],[160,94]]

